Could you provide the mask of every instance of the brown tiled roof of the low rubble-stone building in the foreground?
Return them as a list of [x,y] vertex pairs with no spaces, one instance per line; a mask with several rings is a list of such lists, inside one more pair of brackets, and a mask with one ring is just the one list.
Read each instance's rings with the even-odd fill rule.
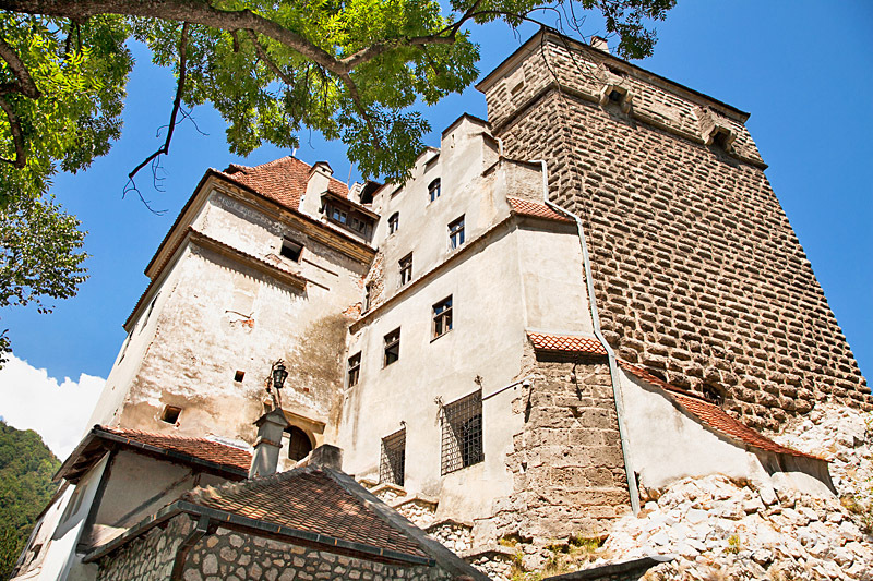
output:
[[198,488],[181,499],[280,526],[426,557],[404,532],[318,468]]

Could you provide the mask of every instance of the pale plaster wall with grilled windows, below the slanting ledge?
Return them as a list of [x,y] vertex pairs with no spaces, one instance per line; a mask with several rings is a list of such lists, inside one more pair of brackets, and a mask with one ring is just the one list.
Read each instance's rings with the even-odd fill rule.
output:
[[[483,402],[485,462],[445,477],[435,399],[451,403],[480,385],[488,396],[518,375],[525,322],[516,244],[512,230],[495,233],[491,244],[410,291],[352,337],[349,353],[361,351],[361,374],[343,408],[346,472],[378,476],[382,438],[406,422],[407,491],[440,496],[441,512],[468,518],[490,515],[491,500],[512,491],[505,455],[521,422],[511,409],[513,390]],[[450,294],[453,329],[432,339],[431,307]],[[383,367],[384,335],[397,327],[399,360]]]

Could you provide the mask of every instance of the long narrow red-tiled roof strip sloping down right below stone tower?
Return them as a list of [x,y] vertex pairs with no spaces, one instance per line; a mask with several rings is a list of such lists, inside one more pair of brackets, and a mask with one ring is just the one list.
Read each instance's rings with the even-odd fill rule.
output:
[[619,361],[619,365],[644,382],[656,385],[669,391],[670,396],[677,403],[679,403],[679,406],[684,408],[691,414],[695,415],[701,422],[716,432],[720,432],[727,436],[730,436],[731,438],[739,439],[749,446],[753,446],[762,450],[822,460],[817,456],[804,453],[791,448],[787,448],[780,444],[776,444],[766,436],[746,426],[739,420],[731,417],[725,412],[725,410],[715,403],[706,401],[705,399],[682,388],[670,385],[667,382],[655,377],[642,367],[637,367],[636,365],[627,363],[626,361]]

